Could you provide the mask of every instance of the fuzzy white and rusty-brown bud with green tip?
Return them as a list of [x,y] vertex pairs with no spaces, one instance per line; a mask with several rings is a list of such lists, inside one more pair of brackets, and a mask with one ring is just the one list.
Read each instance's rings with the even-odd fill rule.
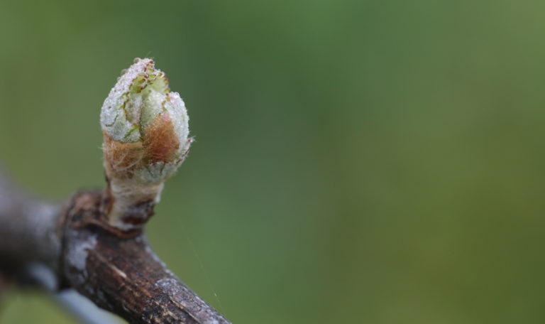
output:
[[123,70],[100,114],[110,225],[132,229],[148,220],[163,182],[189,151],[188,121],[182,98],[153,60],[137,58]]

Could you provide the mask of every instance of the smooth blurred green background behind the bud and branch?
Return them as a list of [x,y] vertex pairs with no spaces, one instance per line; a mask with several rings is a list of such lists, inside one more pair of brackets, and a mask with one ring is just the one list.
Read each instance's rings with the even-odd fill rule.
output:
[[15,2],[0,161],[101,188],[101,104],[155,58],[196,142],[150,242],[233,323],[544,323],[544,1]]

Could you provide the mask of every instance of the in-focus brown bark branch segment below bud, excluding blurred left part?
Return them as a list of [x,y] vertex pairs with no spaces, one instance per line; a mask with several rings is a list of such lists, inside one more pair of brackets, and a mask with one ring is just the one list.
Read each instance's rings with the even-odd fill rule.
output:
[[70,286],[131,323],[229,323],[170,272],[142,232],[120,238],[101,226],[102,194],[67,207],[64,273]]

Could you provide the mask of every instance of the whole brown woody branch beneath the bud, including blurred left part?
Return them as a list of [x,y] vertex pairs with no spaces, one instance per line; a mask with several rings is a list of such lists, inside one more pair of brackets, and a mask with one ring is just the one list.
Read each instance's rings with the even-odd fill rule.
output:
[[75,288],[129,323],[229,323],[166,268],[141,230],[110,227],[103,200],[82,192],[60,210],[22,195],[0,171],[0,271],[43,264],[57,288]]

